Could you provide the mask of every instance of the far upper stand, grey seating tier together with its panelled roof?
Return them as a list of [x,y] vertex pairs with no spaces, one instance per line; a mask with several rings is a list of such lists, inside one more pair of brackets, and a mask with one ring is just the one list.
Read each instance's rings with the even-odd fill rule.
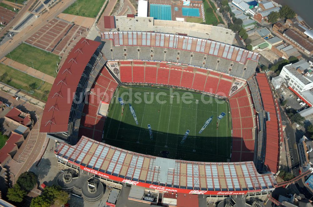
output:
[[243,79],[255,73],[259,60],[257,53],[235,46],[173,34],[103,32],[101,40],[105,42],[102,52],[108,60],[167,61],[204,67]]

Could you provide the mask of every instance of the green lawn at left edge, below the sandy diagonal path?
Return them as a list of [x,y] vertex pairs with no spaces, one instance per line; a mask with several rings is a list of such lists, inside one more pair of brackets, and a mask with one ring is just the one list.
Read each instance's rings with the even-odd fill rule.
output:
[[19,70],[15,70],[7,65],[0,64],[0,77],[7,73],[8,76],[2,80],[3,83],[13,86],[17,89],[22,89],[25,91],[29,91],[28,85],[32,83],[36,83],[37,88],[34,90],[33,96],[38,99],[47,100],[48,94],[46,97],[43,97],[44,91],[50,91],[52,84],[44,82],[38,78],[34,78],[33,76],[27,75]]

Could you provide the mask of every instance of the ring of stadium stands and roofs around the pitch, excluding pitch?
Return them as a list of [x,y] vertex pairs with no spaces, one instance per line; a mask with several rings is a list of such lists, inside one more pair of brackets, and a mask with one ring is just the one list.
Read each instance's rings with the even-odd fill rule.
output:
[[[84,38],[73,48],[44,109],[40,132],[61,142],[55,150],[60,169],[95,174],[113,187],[131,184],[161,192],[262,195],[275,189],[281,120],[266,75],[255,76],[257,53],[165,33],[104,32],[101,38],[101,50],[100,43]],[[105,117],[95,100],[109,103],[121,83],[172,85],[228,100],[232,162],[172,160],[101,143]],[[88,103],[75,101],[82,98]]]

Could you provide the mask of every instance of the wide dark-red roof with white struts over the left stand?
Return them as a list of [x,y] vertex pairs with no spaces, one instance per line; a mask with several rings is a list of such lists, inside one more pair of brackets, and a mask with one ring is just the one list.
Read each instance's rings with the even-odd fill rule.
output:
[[50,91],[40,132],[68,131],[69,113],[80,78],[100,42],[81,38],[67,56]]

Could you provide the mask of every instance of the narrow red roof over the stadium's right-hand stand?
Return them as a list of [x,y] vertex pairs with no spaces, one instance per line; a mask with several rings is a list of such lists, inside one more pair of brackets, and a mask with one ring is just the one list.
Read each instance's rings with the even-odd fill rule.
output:
[[277,103],[273,97],[269,81],[264,73],[258,73],[256,79],[262,96],[264,110],[269,112],[270,121],[266,121],[266,151],[264,164],[272,173],[278,171],[280,151],[280,117],[277,116]]

